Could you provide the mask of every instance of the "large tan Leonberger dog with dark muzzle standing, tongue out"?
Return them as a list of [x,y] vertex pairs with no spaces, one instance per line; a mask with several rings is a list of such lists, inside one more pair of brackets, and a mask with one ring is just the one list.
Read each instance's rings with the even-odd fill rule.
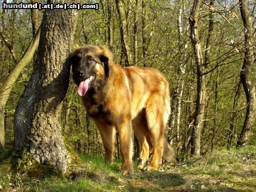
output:
[[[140,169],[158,169],[161,158],[174,160],[174,149],[164,136],[170,91],[163,74],[152,68],[114,64],[109,49],[98,45],[76,48],[69,63],[86,112],[100,130],[105,161],[113,160],[117,129],[121,172],[134,172],[132,128],[141,144]],[[152,157],[146,166],[151,149]]]

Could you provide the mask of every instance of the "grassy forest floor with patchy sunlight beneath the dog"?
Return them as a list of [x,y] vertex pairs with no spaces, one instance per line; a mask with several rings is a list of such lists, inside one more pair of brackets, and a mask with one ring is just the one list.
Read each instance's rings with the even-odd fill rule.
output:
[[119,173],[120,161],[80,155],[64,178],[24,182],[10,170],[10,150],[0,156],[0,191],[256,191],[256,147],[222,149],[158,172]]

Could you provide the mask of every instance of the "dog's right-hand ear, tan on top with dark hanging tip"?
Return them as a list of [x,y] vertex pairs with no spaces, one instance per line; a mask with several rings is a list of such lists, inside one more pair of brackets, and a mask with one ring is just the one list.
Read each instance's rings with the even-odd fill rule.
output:
[[106,77],[109,77],[109,70],[110,70],[110,65],[112,64],[112,53],[109,51],[109,48],[107,46],[100,46],[101,49],[101,56],[100,60],[102,63],[104,63],[104,72]]

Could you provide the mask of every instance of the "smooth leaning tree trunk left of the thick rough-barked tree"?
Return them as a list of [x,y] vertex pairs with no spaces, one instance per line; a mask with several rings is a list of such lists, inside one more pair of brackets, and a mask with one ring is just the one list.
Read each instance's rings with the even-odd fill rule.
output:
[[11,89],[15,81],[18,79],[20,72],[22,72],[22,69],[31,61],[36,48],[38,48],[39,37],[40,30],[31,41],[30,45],[28,45],[26,52],[24,52],[22,58],[11,70],[2,87],[0,88],[0,152],[5,147],[5,105],[11,93]]

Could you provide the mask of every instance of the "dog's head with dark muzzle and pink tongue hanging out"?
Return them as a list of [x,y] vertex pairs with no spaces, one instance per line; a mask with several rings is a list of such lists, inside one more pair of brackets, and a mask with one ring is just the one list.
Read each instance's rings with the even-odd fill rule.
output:
[[112,54],[105,46],[86,45],[77,48],[69,59],[72,65],[73,79],[78,86],[78,93],[84,96],[97,82],[109,77]]

